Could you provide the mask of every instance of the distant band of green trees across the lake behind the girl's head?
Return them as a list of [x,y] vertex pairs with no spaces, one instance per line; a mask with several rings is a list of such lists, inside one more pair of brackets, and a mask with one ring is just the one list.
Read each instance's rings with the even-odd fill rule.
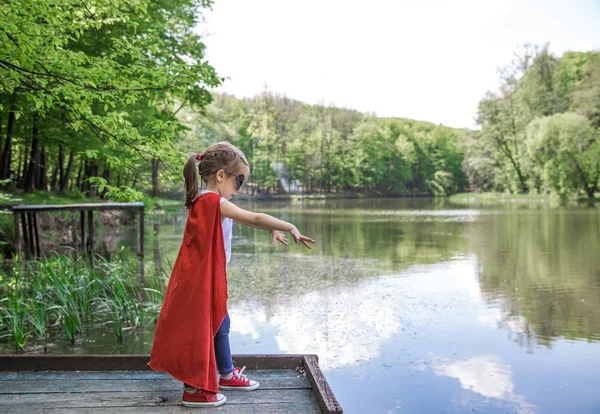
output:
[[[465,189],[462,130],[308,105],[264,92],[217,94],[199,125],[202,145],[229,140],[250,163],[251,191],[446,195]],[[188,139],[188,142],[190,140]]]

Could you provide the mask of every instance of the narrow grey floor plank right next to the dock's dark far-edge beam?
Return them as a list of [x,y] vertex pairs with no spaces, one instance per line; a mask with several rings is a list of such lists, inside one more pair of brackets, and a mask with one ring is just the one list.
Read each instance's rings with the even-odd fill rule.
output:
[[[257,370],[244,371],[257,380],[271,378],[302,378],[307,381],[306,376],[298,371],[285,370]],[[161,371],[13,371],[0,372],[0,381],[64,381],[64,380],[151,380],[151,379],[171,379],[166,372]]]

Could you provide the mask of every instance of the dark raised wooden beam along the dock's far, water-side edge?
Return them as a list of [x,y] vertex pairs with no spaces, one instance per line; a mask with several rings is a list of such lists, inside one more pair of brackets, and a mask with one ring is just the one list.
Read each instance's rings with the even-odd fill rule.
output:
[[[256,369],[302,367],[305,355],[233,355],[235,366]],[[314,355],[312,355],[315,357]],[[316,357],[315,357],[316,358]],[[0,371],[150,370],[149,355],[0,355]]]

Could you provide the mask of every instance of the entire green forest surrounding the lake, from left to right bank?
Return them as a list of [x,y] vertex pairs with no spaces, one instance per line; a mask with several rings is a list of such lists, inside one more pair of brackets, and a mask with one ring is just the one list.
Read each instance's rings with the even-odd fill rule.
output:
[[498,90],[482,96],[477,127],[455,129],[268,90],[213,92],[224,79],[194,32],[210,6],[3,2],[0,201],[33,192],[178,198],[186,154],[221,140],[245,152],[245,191],[259,196],[598,191],[596,51],[556,56],[526,45],[499,71]]

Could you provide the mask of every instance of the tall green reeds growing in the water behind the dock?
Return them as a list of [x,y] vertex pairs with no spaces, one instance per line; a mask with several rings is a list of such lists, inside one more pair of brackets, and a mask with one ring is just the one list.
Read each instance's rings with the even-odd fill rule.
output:
[[146,310],[146,319],[156,320],[163,299],[160,278],[149,274],[149,286],[140,286],[135,261],[94,260],[92,268],[83,257],[54,255],[14,260],[8,271],[0,270],[0,338],[10,340],[16,352],[24,352],[31,337],[46,349],[52,334],[75,344],[86,326],[101,324],[112,326],[122,342],[124,332],[142,325]]

